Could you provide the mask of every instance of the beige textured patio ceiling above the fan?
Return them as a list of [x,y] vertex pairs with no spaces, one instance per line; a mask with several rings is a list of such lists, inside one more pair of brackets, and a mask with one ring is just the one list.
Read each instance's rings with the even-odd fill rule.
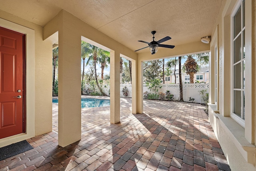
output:
[[[165,36],[180,45],[210,36],[222,0],[0,0],[0,10],[44,26],[64,9],[110,38],[137,50]],[[148,49],[140,50],[145,52]]]

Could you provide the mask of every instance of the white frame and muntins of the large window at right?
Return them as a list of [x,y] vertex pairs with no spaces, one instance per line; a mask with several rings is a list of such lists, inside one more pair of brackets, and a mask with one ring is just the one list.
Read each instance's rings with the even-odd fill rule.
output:
[[[243,108],[243,96],[242,96],[242,92],[245,92],[245,89],[242,89],[242,87],[239,88],[234,88],[234,66],[238,63],[242,63],[243,61],[245,61],[246,58],[242,58],[242,54],[241,54],[241,60],[234,63],[234,40],[236,40],[236,38],[238,38],[239,36],[241,36],[241,47],[243,46],[243,31],[245,31],[245,26],[244,28],[242,28],[242,23],[243,23],[243,8],[242,8],[242,2],[243,0],[239,0],[239,2],[236,4],[236,6],[234,7],[234,10],[232,11],[231,13],[231,18],[230,18],[230,21],[231,21],[231,25],[230,25],[230,39],[231,39],[231,42],[230,42],[230,46],[231,46],[231,74],[230,74],[230,78],[231,78],[231,81],[230,81],[230,96],[231,96],[231,99],[230,99],[230,117],[232,119],[234,119],[237,123],[239,123],[242,127],[245,127],[245,120],[242,119],[241,117],[239,117],[238,115],[236,115],[235,113],[233,113],[233,110],[234,110],[234,91],[237,90],[237,91],[241,91],[241,116],[243,115],[243,112],[242,112],[242,108]],[[241,31],[240,33],[238,33],[238,35],[236,35],[236,37],[234,38],[234,16],[236,15],[236,13],[238,12],[239,8],[241,8]],[[242,69],[242,66],[241,66],[241,72],[240,72],[240,79],[241,79],[241,84],[242,84],[242,78],[243,78],[243,69]],[[247,86],[246,86],[247,87]]]

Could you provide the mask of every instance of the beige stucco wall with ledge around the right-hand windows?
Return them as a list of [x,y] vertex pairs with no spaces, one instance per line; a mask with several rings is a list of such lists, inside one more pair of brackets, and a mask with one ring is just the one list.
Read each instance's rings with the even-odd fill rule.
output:
[[[209,106],[209,121],[214,129],[214,133],[218,138],[220,146],[226,156],[230,168],[232,171],[256,171],[255,167],[255,48],[251,49],[251,52],[246,52],[248,58],[250,58],[250,53],[252,53],[252,69],[251,74],[248,74],[246,79],[252,81],[251,85],[246,85],[247,94],[246,105],[249,106],[246,110],[246,128],[236,123],[230,117],[230,14],[236,4],[236,0],[224,0],[222,2],[222,8],[216,20],[212,38],[216,38],[218,41],[218,106]],[[252,29],[252,42],[247,39],[247,44],[252,44],[255,47],[255,1],[247,0],[249,4],[247,7],[250,8],[250,3],[252,3],[252,24],[250,21],[247,22],[246,31],[250,32]],[[251,14],[247,14],[250,15]],[[249,23],[249,24],[248,24]],[[216,35],[217,34],[217,35]],[[248,42],[249,40],[249,42]],[[214,47],[214,44],[211,44]],[[213,50],[213,49],[212,49]],[[248,48],[247,48],[248,50]],[[250,45],[249,45],[250,50]],[[211,56],[214,58],[214,56]],[[247,58],[247,59],[248,59]],[[214,60],[212,60],[213,63]],[[211,72],[214,72],[214,64],[212,66]],[[250,66],[248,66],[250,67]],[[250,78],[251,77],[251,78]],[[210,76],[210,82],[214,82],[213,75]],[[250,83],[250,82],[249,82]],[[212,84],[214,86],[214,84]],[[250,88],[251,87],[251,88]],[[212,89],[214,87],[211,87]],[[250,89],[248,89],[250,88]],[[212,91],[214,92],[214,91]],[[250,96],[250,97],[249,97]],[[210,103],[214,103],[214,93],[209,97]],[[214,112],[215,111],[215,112]],[[248,119],[249,118],[249,119]],[[252,118],[252,119],[250,119]],[[246,149],[246,150],[245,150]]]

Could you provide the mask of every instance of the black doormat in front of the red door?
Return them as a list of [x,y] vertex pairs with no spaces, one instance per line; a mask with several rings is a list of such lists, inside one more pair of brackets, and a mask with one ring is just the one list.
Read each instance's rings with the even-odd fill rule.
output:
[[33,149],[33,147],[26,140],[7,145],[5,147],[1,147],[0,161],[31,149]]

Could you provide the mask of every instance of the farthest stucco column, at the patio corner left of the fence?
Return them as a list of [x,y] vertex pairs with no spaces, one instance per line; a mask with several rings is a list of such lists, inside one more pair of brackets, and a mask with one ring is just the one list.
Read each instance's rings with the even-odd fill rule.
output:
[[138,113],[143,113],[143,66],[142,66],[142,61],[138,60]]

